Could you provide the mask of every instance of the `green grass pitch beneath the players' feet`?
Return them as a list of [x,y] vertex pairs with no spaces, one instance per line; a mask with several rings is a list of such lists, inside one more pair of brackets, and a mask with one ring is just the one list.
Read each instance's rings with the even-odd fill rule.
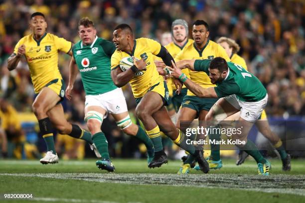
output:
[[[149,169],[145,160],[113,160],[115,173],[100,171],[95,160],[41,165],[38,160],[0,161],[0,202],[150,203],[150,202],[305,202],[305,160],[293,160],[282,172],[271,160],[269,177],[257,175],[247,160],[236,166],[224,159],[221,170],[177,175],[181,162]],[[32,194],[32,199],[4,199],[4,194]]]

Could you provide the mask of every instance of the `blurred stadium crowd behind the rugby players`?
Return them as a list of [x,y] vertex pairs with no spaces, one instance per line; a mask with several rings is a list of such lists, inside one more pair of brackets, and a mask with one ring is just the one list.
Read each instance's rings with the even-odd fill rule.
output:
[[[268,115],[287,118],[305,114],[305,3],[302,0],[0,2],[0,119],[2,130],[13,137],[7,136],[8,141],[19,136],[15,143],[24,142],[24,132],[20,123],[16,124],[18,119],[13,115],[16,111],[31,112],[34,91],[27,63],[22,61],[15,71],[9,72],[6,59],[13,52],[17,41],[29,34],[28,19],[35,11],[46,15],[47,32],[64,37],[73,43],[79,40],[77,23],[85,16],[95,22],[98,36],[108,40],[112,40],[113,28],[120,23],[130,24],[136,38],[147,37],[160,41],[162,33],[171,31],[173,20],[185,19],[191,29],[194,20],[204,19],[209,23],[211,40],[216,41],[219,37],[226,36],[235,39],[240,45],[238,54],[246,60],[248,69],[268,90]],[[191,32],[189,33],[191,35]],[[68,55],[61,55],[59,58],[59,68],[66,83],[69,62]],[[124,94],[133,114],[136,103],[130,87],[124,88]],[[71,121],[84,123],[84,98],[82,83],[78,78],[72,101],[63,102],[67,117]],[[7,111],[11,111],[11,117],[15,118],[10,118],[12,123],[7,121]],[[133,119],[139,122],[135,116]],[[113,156],[135,156],[134,146],[138,145],[136,139],[126,138],[111,117],[104,121],[103,126]],[[76,145],[78,146],[78,143]],[[37,153],[34,151],[33,154]],[[141,156],[141,153],[136,154]]]

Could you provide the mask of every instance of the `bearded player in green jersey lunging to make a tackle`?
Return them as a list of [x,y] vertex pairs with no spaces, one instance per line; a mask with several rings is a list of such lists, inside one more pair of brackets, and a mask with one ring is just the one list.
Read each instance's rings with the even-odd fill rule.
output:
[[[220,98],[209,110],[206,121],[218,124],[226,117],[240,111],[236,128],[242,129],[240,134],[232,135],[234,140],[244,141],[237,145],[250,154],[258,164],[259,175],[269,175],[271,164],[258,151],[256,145],[248,140],[248,133],[264,110],[268,95],[263,84],[251,73],[238,64],[226,62],[224,58],[213,60],[183,60],[172,62],[172,76],[181,82],[200,98]],[[216,87],[202,88],[189,80],[179,68],[189,68],[192,71],[205,72]]]

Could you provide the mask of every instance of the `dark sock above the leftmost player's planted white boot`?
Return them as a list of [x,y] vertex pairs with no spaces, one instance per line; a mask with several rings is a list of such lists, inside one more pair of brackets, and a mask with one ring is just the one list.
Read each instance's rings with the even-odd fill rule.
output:
[[50,119],[48,117],[40,119],[38,120],[38,124],[42,137],[47,145],[47,151],[52,151],[53,154],[56,154],[53,138],[53,127]]

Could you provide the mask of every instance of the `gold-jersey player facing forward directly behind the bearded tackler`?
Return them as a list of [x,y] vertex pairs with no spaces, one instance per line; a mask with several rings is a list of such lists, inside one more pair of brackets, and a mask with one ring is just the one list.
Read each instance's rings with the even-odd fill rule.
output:
[[[181,61],[186,59],[213,59],[214,57],[223,57],[227,61],[230,61],[225,50],[217,43],[208,39],[209,37],[209,25],[204,20],[196,20],[192,26],[192,37],[194,42],[185,46],[175,57],[175,61]],[[162,74],[159,72],[159,74]],[[210,82],[209,77],[204,72],[189,71],[189,78],[193,82],[199,84],[201,87],[209,88],[215,87],[214,84]],[[176,121],[176,127],[180,128],[182,131],[188,127],[187,125],[180,126],[180,121],[193,121],[195,118],[199,119],[199,125],[204,125],[200,121],[205,120],[205,116],[217,101],[216,98],[198,98],[191,91],[187,91],[187,95],[183,98],[181,108],[178,111],[178,118]],[[210,139],[219,140],[220,135],[210,136]],[[221,163],[214,163],[214,160],[219,160],[220,155],[217,151],[216,145],[212,145],[211,157],[208,160],[210,163],[210,168],[214,168]],[[215,154],[214,154],[215,149]],[[218,154],[217,154],[218,152]],[[189,173],[190,166],[193,165],[194,157],[189,156],[184,160],[183,165],[180,167],[178,174]],[[212,165],[211,165],[212,164]],[[212,167],[211,167],[212,166]]]

